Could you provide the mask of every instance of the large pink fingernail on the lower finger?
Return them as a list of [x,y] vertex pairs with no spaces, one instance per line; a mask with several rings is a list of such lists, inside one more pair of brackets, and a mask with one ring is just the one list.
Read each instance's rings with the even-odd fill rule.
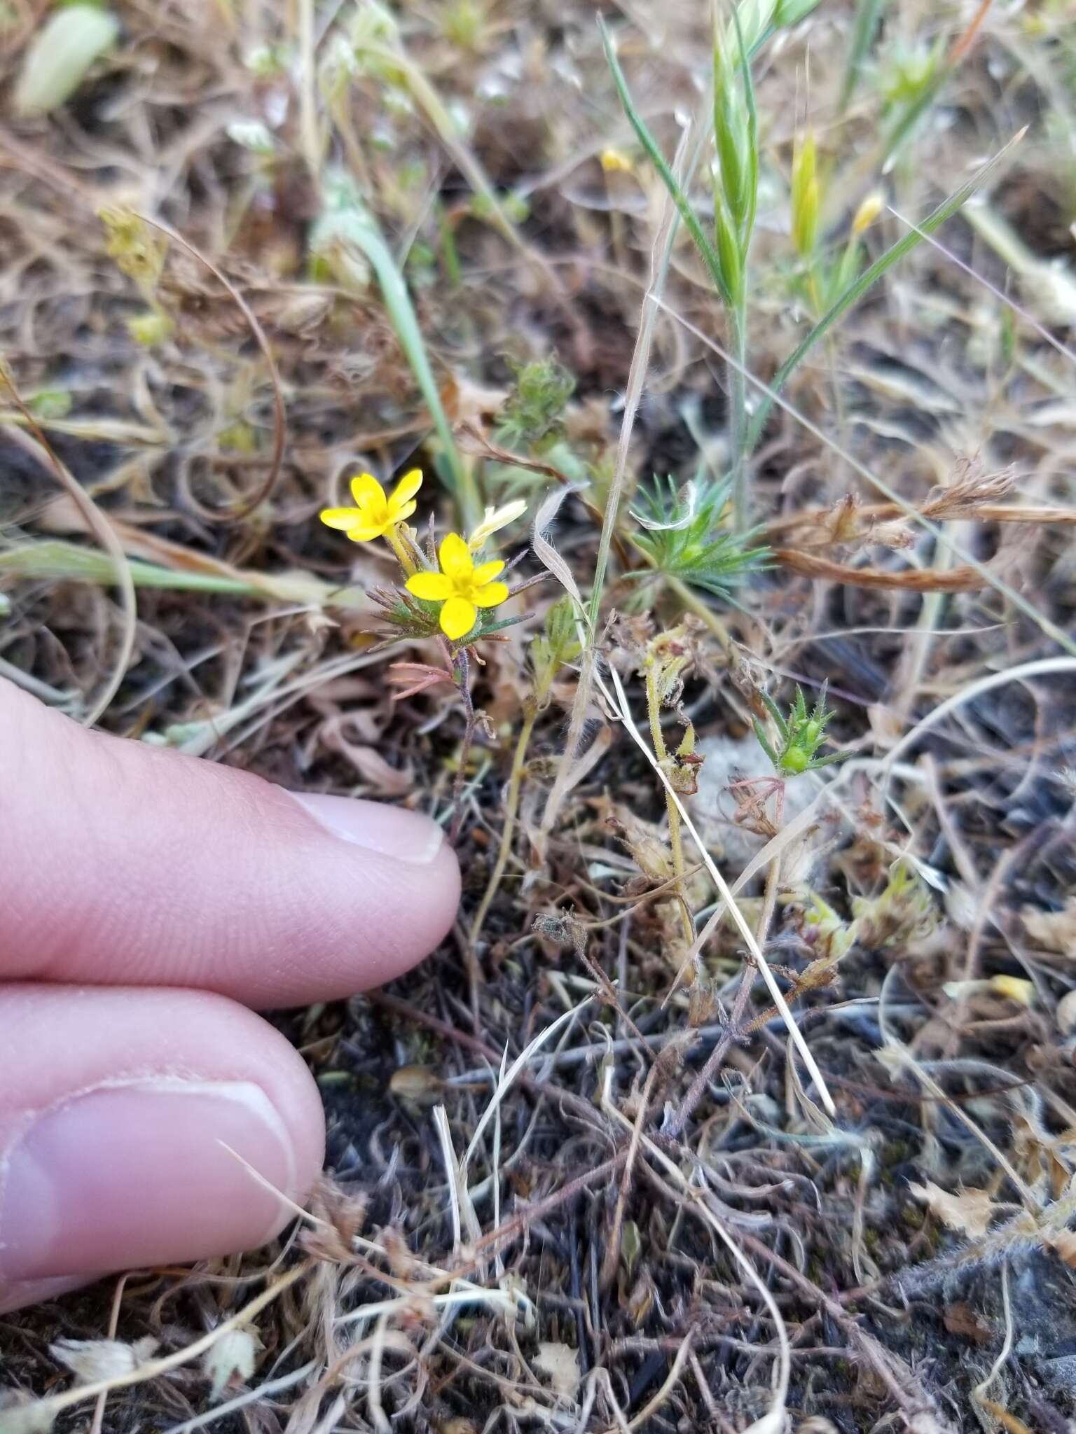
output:
[[0,1283],[265,1243],[288,1209],[242,1162],[296,1196],[287,1130],[253,1083],[152,1080],[73,1097],[0,1160]]

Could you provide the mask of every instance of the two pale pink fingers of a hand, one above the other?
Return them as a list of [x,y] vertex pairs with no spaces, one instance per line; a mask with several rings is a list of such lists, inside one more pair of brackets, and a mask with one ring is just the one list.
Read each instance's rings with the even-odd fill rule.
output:
[[324,1153],[247,1007],[389,981],[452,923],[425,816],[88,733],[0,681],[0,1311],[264,1243]]

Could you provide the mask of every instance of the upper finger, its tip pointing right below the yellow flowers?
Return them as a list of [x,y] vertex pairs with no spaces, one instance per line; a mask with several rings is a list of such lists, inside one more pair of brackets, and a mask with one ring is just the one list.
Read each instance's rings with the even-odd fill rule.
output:
[[297,1005],[387,981],[450,929],[459,866],[422,813],[88,733],[7,685],[1,977]]

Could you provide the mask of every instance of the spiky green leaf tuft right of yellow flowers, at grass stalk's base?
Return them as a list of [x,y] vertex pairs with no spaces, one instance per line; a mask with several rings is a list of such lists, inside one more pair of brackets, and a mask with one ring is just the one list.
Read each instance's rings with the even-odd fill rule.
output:
[[[747,574],[766,565],[769,549],[752,545],[759,529],[735,533],[722,528],[730,483],[687,483],[677,489],[673,478],[643,495],[641,511],[631,516],[640,526],[634,545],[646,554],[656,572],[727,598]],[[646,578],[647,572],[630,574]]]

